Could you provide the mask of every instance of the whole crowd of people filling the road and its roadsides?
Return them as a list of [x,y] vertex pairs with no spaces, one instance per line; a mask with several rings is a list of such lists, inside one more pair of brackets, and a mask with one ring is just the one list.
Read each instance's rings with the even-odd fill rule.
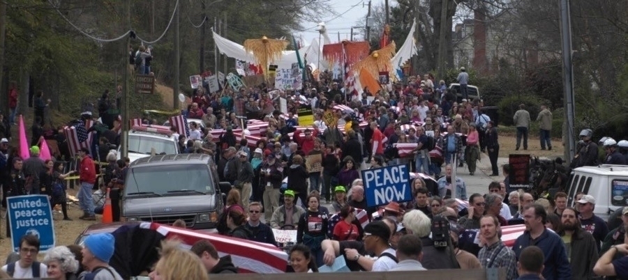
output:
[[[287,111],[282,114],[278,109],[284,99]],[[457,102],[456,93],[448,91],[444,81],[436,83],[429,75],[410,77],[406,85],[393,84],[389,92],[369,96],[367,89],[359,96],[345,95],[338,83],[323,73],[320,84],[294,92],[262,85],[235,92],[225,88],[221,94],[212,94],[204,85],[195,91],[184,111],[188,118],[202,123],[190,125],[187,139],[177,136],[184,153],[214,155],[220,181],[232,186],[222,190],[227,198],[218,232],[285,247],[294,272],[316,272],[317,267],[331,265],[336,257],[343,256],[353,271],[504,267],[507,279],[628,277],[628,260],[621,258],[628,252],[626,227],[611,228],[609,233],[606,223],[593,215],[594,197],[578,194],[574,208],[568,208],[564,193],[556,194],[553,201],[534,201],[527,193],[507,193],[507,179],[491,183],[487,194],[470,196],[461,178],[451,182],[453,169],[465,164],[474,175],[481,153],[488,154],[491,176],[500,175],[498,131],[483,106],[482,100],[464,98]],[[304,108],[313,110],[313,125],[299,125],[296,113]],[[523,148],[527,149],[531,120],[522,110],[524,106],[514,116],[517,148],[523,138]],[[237,141],[234,130],[246,129],[241,116],[268,123],[267,132],[254,146],[246,139]],[[150,116],[144,116],[143,121],[156,123]],[[537,121],[541,123],[541,148],[551,150],[551,112],[541,107]],[[107,132],[116,129],[112,126],[98,133],[114,135]],[[224,133],[215,139],[211,130]],[[583,149],[590,142],[589,132],[581,133]],[[105,147],[103,155],[107,158],[105,141],[117,144],[115,137],[112,141],[96,139],[103,141],[100,146]],[[0,141],[0,150],[6,142]],[[416,143],[416,148],[400,156],[396,143]],[[608,146],[609,155],[615,150],[619,153],[621,147],[612,141],[604,146]],[[80,151],[86,164],[91,160],[88,153],[89,149]],[[588,153],[592,148],[581,150],[574,162],[589,165],[584,159],[590,159]],[[37,155],[36,147],[31,148],[31,158]],[[320,161],[308,164],[308,159],[315,157]],[[26,161],[22,167],[13,157],[11,163],[17,178],[26,176]],[[36,186],[51,180],[54,184],[69,175],[62,174],[63,169],[54,162],[41,164],[38,170],[48,171],[50,178],[38,176],[46,182],[34,182]],[[124,179],[126,164],[112,159],[110,182]],[[433,176],[438,182],[431,184],[417,176],[412,181],[412,201],[369,207],[359,171],[389,164],[410,164],[412,171]],[[504,170],[507,173],[509,166]],[[91,170],[81,174],[81,189],[86,191],[80,196],[90,198],[80,199],[86,201],[82,219],[94,217],[94,205],[87,203],[96,182],[93,176]],[[52,185],[44,186],[41,191],[53,189]],[[456,197],[452,198],[452,193]],[[465,207],[456,199],[468,199],[469,204]],[[63,205],[64,201],[58,202]],[[323,202],[332,205],[332,212],[322,206]],[[366,212],[366,221],[357,217],[360,210]],[[628,217],[628,209],[623,214],[622,220]],[[64,216],[68,218],[65,212]],[[525,224],[526,231],[507,247],[500,239],[501,228],[516,223]],[[297,244],[277,244],[272,228],[296,229]],[[44,264],[34,261],[38,241],[31,239],[23,238],[18,265],[7,265],[3,271],[24,277],[47,274],[56,279],[119,279],[107,265],[113,254],[110,235],[90,235],[80,252],[71,247],[52,249]],[[77,260],[70,258],[68,250]],[[154,279],[207,279],[207,273],[236,272],[230,256],[218,257],[213,245],[203,241],[190,251],[166,242],[150,274]]]

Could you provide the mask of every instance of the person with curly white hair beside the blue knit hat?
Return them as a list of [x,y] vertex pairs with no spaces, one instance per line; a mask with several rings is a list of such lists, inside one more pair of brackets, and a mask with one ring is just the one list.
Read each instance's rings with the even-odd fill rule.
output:
[[46,253],[43,263],[48,267],[47,273],[50,279],[77,279],[75,273],[79,263],[68,247],[58,246],[50,249]]

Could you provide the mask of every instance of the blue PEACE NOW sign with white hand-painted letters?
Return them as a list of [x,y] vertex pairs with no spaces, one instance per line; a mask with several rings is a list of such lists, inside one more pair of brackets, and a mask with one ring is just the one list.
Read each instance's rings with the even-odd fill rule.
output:
[[409,170],[407,164],[362,170],[366,204],[371,207],[391,201],[411,201]]

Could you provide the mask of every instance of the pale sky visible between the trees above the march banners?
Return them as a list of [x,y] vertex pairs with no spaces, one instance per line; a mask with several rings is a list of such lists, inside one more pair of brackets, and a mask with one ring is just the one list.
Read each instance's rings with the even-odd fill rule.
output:
[[[358,20],[368,13],[368,0],[331,0],[330,6],[336,15],[322,15],[323,22],[327,27],[327,33],[331,42],[338,42],[338,32],[341,40],[349,39],[351,26],[356,26]],[[389,0],[389,5],[396,4],[396,1]],[[371,0],[371,6],[384,5],[384,0]],[[318,39],[318,22],[301,22],[306,31],[298,32],[303,36],[306,44],[310,44],[313,39]],[[371,29],[373,30],[373,29]],[[354,40],[364,38],[362,30],[354,29]]]

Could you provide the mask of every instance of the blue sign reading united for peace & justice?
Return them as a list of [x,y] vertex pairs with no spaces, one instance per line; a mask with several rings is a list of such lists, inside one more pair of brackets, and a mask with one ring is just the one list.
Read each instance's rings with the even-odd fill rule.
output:
[[47,195],[10,196],[6,198],[6,204],[13,251],[20,249],[20,239],[27,234],[39,238],[40,252],[54,247],[52,209]]

